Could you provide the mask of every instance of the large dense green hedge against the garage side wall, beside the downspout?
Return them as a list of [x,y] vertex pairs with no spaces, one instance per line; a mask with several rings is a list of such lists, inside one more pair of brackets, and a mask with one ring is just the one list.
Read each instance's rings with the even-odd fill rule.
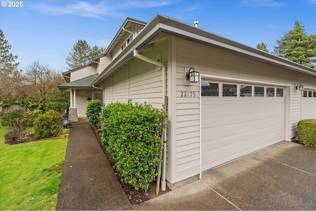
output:
[[167,124],[167,113],[152,105],[111,103],[101,112],[102,142],[113,156],[126,183],[136,190],[148,190],[161,161],[161,130]]

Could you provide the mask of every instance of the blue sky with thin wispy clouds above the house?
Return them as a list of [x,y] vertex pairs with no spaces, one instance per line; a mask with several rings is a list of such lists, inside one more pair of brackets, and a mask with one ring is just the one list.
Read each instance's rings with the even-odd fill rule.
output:
[[67,71],[65,58],[78,40],[107,47],[126,17],[198,20],[201,29],[251,47],[264,42],[270,51],[296,20],[316,35],[316,0],[18,0],[22,7],[0,1],[0,29],[22,70],[40,61]]

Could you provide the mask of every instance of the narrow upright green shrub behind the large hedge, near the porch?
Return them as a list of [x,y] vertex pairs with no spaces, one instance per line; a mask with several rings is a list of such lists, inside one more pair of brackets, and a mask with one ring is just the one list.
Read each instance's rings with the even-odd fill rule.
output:
[[100,112],[102,110],[101,100],[90,100],[85,111],[86,117],[90,125],[94,128],[100,127]]

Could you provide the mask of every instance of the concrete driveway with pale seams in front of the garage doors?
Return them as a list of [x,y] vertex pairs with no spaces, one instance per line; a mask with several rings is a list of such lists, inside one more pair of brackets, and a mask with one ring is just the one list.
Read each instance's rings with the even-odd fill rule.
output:
[[135,210],[316,210],[316,148],[281,142]]

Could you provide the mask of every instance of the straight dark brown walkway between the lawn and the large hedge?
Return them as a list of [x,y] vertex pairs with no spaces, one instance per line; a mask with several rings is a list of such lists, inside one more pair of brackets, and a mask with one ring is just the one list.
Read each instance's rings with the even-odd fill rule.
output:
[[132,210],[89,123],[70,129],[56,210]]

